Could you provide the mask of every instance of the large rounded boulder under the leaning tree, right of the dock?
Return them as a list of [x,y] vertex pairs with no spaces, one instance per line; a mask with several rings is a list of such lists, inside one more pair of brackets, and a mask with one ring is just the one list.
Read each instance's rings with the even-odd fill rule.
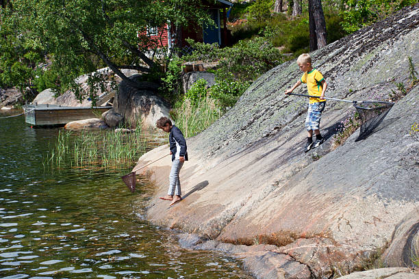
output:
[[[129,77],[140,82],[140,75]],[[151,90],[132,88],[121,81],[114,99],[114,113],[123,116],[124,121],[136,127],[137,122],[144,129],[155,127],[155,122],[162,116],[169,117],[169,104]]]

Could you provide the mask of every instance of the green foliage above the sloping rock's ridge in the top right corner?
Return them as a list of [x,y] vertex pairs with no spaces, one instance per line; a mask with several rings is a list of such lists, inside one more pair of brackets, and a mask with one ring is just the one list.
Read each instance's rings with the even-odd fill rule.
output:
[[344,3],[347,8],[341,13],[344,18],[342,27],[346,32],[353,33],[417,2],[417,0],[346,0]]

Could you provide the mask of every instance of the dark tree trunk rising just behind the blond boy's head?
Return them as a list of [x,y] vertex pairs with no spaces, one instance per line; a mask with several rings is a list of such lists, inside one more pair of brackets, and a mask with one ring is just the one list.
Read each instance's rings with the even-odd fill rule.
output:
[[327,44],[326,21],[320,0],[309,0],[310,51]]

